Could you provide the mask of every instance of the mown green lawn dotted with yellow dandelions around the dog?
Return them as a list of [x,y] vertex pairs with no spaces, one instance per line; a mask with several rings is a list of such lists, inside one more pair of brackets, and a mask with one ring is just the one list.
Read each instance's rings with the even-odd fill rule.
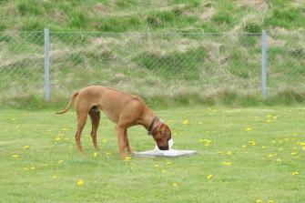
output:
[[[105,116],[97,157],[89,120],[82,137],[86,153],[79,155],[74,112],[2,110],[1,202],[305,202],[304,107],[156,112],[172,128],[174,148],[198,155],[124,161],[115,125]],[[134,150],[155,145],[143,127],[128,134]]]

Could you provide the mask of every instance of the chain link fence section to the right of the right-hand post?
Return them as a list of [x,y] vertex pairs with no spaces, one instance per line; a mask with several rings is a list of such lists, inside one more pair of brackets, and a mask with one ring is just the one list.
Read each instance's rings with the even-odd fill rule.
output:
[[268,92],[281,99],[305,96],[305,34],[270,33],[268,46]]

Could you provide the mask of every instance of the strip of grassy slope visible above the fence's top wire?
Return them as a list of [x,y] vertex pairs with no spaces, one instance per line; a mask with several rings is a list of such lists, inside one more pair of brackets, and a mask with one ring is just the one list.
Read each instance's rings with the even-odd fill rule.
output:
[[2,30],[249,31],[302,30],[300,1],[2,1]]

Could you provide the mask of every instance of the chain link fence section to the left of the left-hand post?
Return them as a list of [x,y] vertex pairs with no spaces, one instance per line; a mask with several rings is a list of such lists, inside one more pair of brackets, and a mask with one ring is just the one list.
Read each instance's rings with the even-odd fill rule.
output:
[[0,33],[0,102],[44,96],[44,33]]

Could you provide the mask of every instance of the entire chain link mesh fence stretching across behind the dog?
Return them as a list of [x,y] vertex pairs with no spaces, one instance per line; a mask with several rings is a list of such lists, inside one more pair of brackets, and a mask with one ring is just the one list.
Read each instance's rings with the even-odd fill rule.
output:
[[[303,34],[268,34],[269,96],[305,90]],[[261,34],[49,33],[50,98],[113,86],[147,100],[261,97]],[[44,99],[44,32],[0,33],[1,102]]]

